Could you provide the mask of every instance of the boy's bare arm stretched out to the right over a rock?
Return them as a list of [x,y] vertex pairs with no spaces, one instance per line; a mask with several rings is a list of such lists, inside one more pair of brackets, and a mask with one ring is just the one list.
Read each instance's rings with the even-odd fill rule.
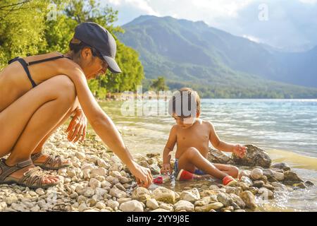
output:
[[215,127],[211,122],[209,122],[210,126],[210,134],[209,134],[209,140],[214,148],[218,150],[223,150],[230,153],[235,153],[239,155],[240,157],[243,157],[246,153],[247,148],[242,145],[232,145],[230,143],[225,143],[225,141],[221,141],[218,137]]

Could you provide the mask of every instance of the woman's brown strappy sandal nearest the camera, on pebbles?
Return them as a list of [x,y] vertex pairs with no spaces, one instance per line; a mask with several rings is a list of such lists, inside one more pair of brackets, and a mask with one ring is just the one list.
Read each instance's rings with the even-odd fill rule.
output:
[[21,178],[15,178],[10,176],[13,172],[18,171],[19,169],[23,169],[29,165],[32,165],[32,160],[26,160],[23,162],[19,162],[16,165],[8,166],[4,158],[0,160],[0,184],[18,184],[22,186],[27,186],[32,189],[46,189],[51,186],[56,186],[59,182],[52,182],[49,184],[43,183],[44,179],[47,178],[45,175],[49,174],[49,172],[44,172],[40,167],[30,168],[23,174]]

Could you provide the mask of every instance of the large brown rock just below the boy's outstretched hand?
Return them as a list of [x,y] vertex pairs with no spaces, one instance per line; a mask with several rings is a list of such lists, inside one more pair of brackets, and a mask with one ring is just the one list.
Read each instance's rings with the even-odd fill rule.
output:
[[232,154],[232,162],[235,165],[246,165],[249,167],[260,166],[268,168],[271,166],[271,158],[268,154],[254,145],[245,145],[247,149],[247,154],[244,157],[238,157],[235,154]]

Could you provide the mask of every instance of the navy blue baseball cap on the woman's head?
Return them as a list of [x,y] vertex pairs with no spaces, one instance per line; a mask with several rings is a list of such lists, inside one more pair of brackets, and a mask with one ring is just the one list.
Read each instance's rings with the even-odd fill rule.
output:
[[117,49],[116,40],[106,28],[92,22],[80,23],[80,25],[77,25],[75,28],[74,37],[97,49],[107,62],[108,69],[112,73],[121,72],[115,60]]

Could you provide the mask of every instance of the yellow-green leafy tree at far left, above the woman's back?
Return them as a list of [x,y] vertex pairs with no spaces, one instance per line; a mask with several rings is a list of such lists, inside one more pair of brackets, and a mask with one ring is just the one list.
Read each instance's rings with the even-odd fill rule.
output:
[[43,39],[48,1],[0,1],[0,69],[9,59],[37,54]]

